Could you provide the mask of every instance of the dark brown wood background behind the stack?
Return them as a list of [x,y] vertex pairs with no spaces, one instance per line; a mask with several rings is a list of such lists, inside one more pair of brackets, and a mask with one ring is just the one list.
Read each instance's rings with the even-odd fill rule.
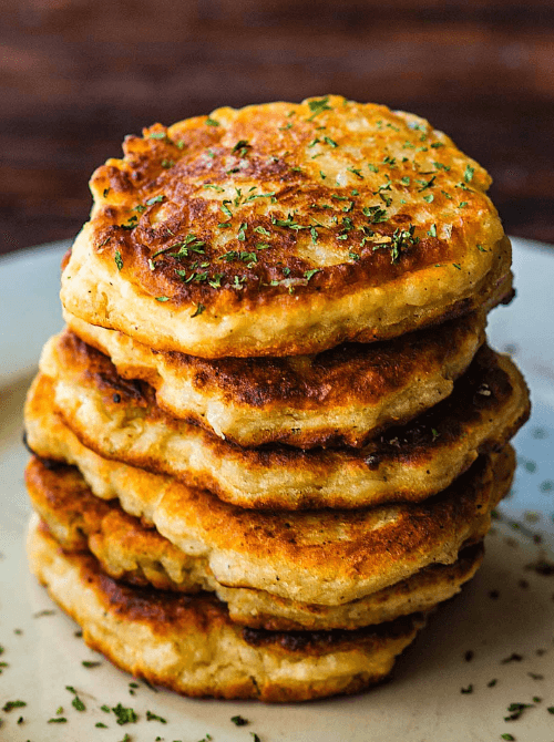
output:
[[3,0],[0,253],[73,236],[127,133],[341,93],[423,115],[554,243],[553,0]]

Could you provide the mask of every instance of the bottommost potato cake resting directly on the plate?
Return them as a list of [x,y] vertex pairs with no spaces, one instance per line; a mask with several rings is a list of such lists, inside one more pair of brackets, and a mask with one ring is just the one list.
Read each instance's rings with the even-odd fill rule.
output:
[[214,597],[122,585],[94,557],[68,554],[31,521],[30,566],[114,664],[186,695],[305,701],[356,693],[386,678],[423,626],[421,614],[356,631],[244,629]]

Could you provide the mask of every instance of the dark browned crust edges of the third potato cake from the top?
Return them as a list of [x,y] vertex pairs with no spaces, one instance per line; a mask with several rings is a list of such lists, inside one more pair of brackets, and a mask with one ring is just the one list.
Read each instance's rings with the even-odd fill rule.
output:
[[[103,405],[107,414],[120,414],[121,410],[132,419],[141,415],[147,421],[164,420],[170,426],[186,435],[186,424],[176,421],[163,413],[155,403],[154,390],[140,381],[122,379],[110,360],[99,351],[80,341],[72,333],[63,336],[59,346],[59,358],[63,373],[75,374],[80,385],[92,384],[102,392]],[[476,353],[466,373],[461,377],[454,387],[454,392],[420,415],[417,420],[402,427],[391,427],[384,434],[369,442],[361,450],[319,450],[301,451],[287,446],[264,446],[260,449],[243,449],[207,432],[203,433],[203,446],[220,458],[232,457],[240,462],[246,468],[253,470],[279,468],[325,471],[334,470],[337,461],[343,466],[368,466],[380,468],[386,475],[387,468],[400,462],[404,466],[424,465],[431,462],[437,451],[454,454],[460,441],[486,420],[493,420],[501,413],[510,401],[517,387],[519,393],[524,395],[521,402],[521,412],[511,424],[495,427],[491,436],[483,440],[478,453],[499,451],[523,425],[530,415],[530,400],[526,387],[517,369],[505,357],[501,357],[489,347],[482,347]],[[483,392],[483,393],[481,393]],[[160,457],[147,454],[130,454],[129,452],[111,452],[99,446],[98,442],[86,430],[75,424],[75,421],[64,410],[60,411],[68,426],[73,430],[81,442],[100,455],[124,461],[125,463],[145,468],[153,473],[172,474],[185,484],[197,486],[201,484],[194,472],[175,471]],[[469,463],[471,463],[470,460]],[[270,494],[248,502],[237,502],[236,496],[226,488],[225,482],[211,477],[207,473],[202,486],[208,487],[222,499],[236,502],[246,507],[283,507],[283,498]],[[432,491],[399,489],[394,496],[390,493],[381,502],[409,501],[414,502],[433,494]],[[318,503],[317,497],[299,496],[295,503],[287,502],[288,508],[307,509]],[[335,496],[335,506],[351,507],[350,498],[340,501],[340,493]],[[356,504],[353,505],[356,506]]]

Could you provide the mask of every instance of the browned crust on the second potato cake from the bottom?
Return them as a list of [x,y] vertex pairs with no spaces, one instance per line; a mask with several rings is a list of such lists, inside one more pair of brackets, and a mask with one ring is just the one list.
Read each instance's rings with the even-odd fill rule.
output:
[[[222,598],[218,590],[222,586],[212,578],[205,559],[187,557],[161,536],[156,529],[146,528],[136,517],[124,513],[117,503],[106,504],[100,501],[84,485],[81,475],[73,467],[58,467],[52,471],[37,456],[33,456],[25,468],[25,484],[34,511],[40,514],[65,552],[91,550],[106,575],[124,583],[181,592],[197,592],[201,589],[215,590]],[[115,564],[110,556],[113,548],[116,549]],[[482,543],[474,544],[463,549],[452,565],[431,565],[420,570],[413,576],[417,585],[413,578],[409,578],[373,594],[372,601],[376,605],[386,602],[390,597],[406,596],[406,601],[398,612],[394,615],[389,611],[388,618],[381,620],[390,620],[400,615],[421,610],[422,607],[418,607],[421,604],[416,607],[413,604],[414,588],[417,590],[427,589],[434,594],[433,604],[444,599],[442,592],[437,596],[437,587],[451,585],[451,595],[454,594],[462,583],[475,574],[482,561],[483,553]],[[173,573],[176,571],[176,567],[192,569],[193,566],[197,567],[197,571],[186,580],[176,583],[162,566],[167,564],[166,559],[173,563]],[[160,568],[153,569],[152,565],[158,565]],[[224,595],[223,599],[230,601],[229,610],[233,620],[250,628],[306,631],[315,630],[318,626],[352,629],[380,622],[375,619],[369,620],[368,616],[371,614],[362,610],[356,622],[350,620],[345,625],[346,619],[341,618],[335,619],[337,622],[327,619],[326,622],[318,625],[318,616],[324,614],[327,607],[317,604],[298,604],[302,616],[301,621],[271,614],[267,602],[256,604],[256,611],[240,610],[239,605],[234,606],[234,600],[240,601],[240,596],[232,596],[230,592],[233,590],[227,588],[225,594],[227,597]],[[429,599],[427,598],[427,601]],[[271,605],[277,610],[280,604],[285,602],[287,601],[283,598],[271,596]],[[260,608],[261,605],[265,608]],[[427,604],[423,606],[425,609],[429,608]]]

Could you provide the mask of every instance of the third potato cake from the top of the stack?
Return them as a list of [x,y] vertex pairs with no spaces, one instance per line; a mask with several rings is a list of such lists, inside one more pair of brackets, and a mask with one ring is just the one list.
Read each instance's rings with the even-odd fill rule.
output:
[[[242,449],[162,413],[152,388],[121,379],[100,352],[65,340],[48,343],[41,359],[55,381],[40,378],[29,395],[25,424],[37,453],[76,463],[82,453],[69,426],[104,457],[249,508],[421,501],[449,486],[480,452],[501,447],[529,415],[516,368],[482,348],[447,400],[361,450]],[[54,398],[65,426],[51,419]]]

